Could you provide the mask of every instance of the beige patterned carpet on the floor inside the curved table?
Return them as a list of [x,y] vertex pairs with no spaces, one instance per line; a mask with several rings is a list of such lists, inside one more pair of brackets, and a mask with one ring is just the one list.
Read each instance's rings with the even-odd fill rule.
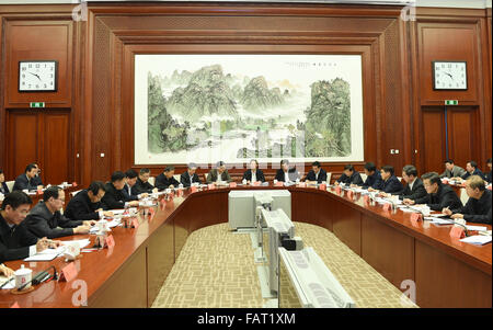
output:
[[[312,247],[357,307],[417,307],[341,242],[331,231],[295,223],[296,236]],[[228,224],[194,231],[164,282],[154,308],[262,308],[250,235]],[[402,303],[401,303],[402,301]]]

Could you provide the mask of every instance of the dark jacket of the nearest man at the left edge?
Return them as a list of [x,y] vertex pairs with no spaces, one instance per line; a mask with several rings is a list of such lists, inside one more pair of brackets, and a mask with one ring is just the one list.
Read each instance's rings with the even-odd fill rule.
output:
[[27,230],[24,223],[11,229],[0,214],[0,262],[30,257],[30,247],[36,242],[37,238]]

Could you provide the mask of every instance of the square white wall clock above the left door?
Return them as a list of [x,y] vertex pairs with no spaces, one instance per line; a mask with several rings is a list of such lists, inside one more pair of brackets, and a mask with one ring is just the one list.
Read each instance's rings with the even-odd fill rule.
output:
[[57,90],[56,60],[30,60],[19,62],[20,92],[55,92]]

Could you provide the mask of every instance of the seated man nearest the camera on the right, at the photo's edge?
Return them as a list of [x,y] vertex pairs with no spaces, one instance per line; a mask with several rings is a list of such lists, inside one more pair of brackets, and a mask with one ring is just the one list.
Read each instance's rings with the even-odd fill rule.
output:
[[444,208],[442,212],[451,215],[452,219],[491,225],[491,191],[484,187],[483,179],[479,175],[469,177],[466,180],[466,192],[469,196],[466,206]]

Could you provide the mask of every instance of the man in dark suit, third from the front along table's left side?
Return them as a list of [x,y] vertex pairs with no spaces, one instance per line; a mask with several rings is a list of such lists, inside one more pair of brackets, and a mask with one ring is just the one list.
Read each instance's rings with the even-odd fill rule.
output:
[[99,220],[103,216],[113,216],[112,212],[103,210],[101,207],[101,198],[105,194],[104,183],[93,181],[87,190],[82,190],[74,195],[67,209],[64,212],[65,217],[71,220]]

